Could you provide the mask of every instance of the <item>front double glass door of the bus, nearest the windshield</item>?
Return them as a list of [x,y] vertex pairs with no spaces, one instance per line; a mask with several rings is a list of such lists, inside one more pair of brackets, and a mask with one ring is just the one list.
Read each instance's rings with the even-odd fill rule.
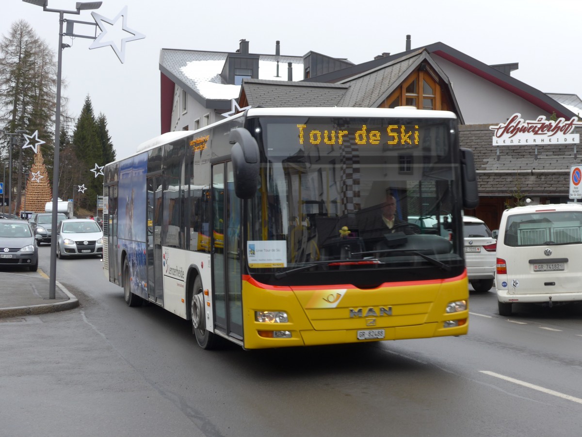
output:
[[240,199],[233,184],[232,163],[212,166],[212,290],[214,320],[229,336],[243,339],[240,270]]

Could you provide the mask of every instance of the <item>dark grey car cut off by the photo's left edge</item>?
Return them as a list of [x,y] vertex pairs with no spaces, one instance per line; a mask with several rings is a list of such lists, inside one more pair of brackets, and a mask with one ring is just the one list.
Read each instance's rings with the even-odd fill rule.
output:
[[38,246],[30,224],[24,220],[0,218],[0,266],[38,269]]

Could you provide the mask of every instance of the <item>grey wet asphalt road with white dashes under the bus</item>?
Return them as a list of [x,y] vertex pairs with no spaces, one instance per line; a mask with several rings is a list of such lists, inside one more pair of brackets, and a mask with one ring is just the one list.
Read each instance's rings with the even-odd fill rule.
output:
[[580,435],[581,305],[508,319],[471,291],[463,337],[203,351],[101,266],[57,260],[79,308],[0,323],[0,436]]

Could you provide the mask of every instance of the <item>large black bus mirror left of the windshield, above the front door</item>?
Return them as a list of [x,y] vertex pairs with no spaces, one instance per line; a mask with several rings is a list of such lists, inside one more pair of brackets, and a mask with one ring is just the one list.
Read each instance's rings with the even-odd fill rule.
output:
[[230,151],[235,176],[235,193],[239,199],[252,198],[258,189],[260,155],[257,140],[244,128],[230,131]]

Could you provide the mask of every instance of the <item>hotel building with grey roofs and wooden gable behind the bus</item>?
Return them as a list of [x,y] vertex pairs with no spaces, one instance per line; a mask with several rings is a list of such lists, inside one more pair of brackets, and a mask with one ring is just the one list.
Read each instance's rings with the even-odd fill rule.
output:
[[[250,55],[244,40],[235,54],[164,49],[162,133],[196,129],[246,107],[446,110],[459,118],[461,146],[475,154],[480,205],[467,214],[495,229],[508,205],[569,200],[570,168],[582,165],[576,125],[557,143],[548,135],[523,143],[494,139],[502,129],[491,126],[512,120],[566,124],[582,112],[580,98],[546,94],[520,82],[511,76],[518,64],[487,65],[443,43],[414,49],[410,44],[407,36],[405,51],[357,65],[316,52]],[[282,64],[288,75],[281,74]]]

